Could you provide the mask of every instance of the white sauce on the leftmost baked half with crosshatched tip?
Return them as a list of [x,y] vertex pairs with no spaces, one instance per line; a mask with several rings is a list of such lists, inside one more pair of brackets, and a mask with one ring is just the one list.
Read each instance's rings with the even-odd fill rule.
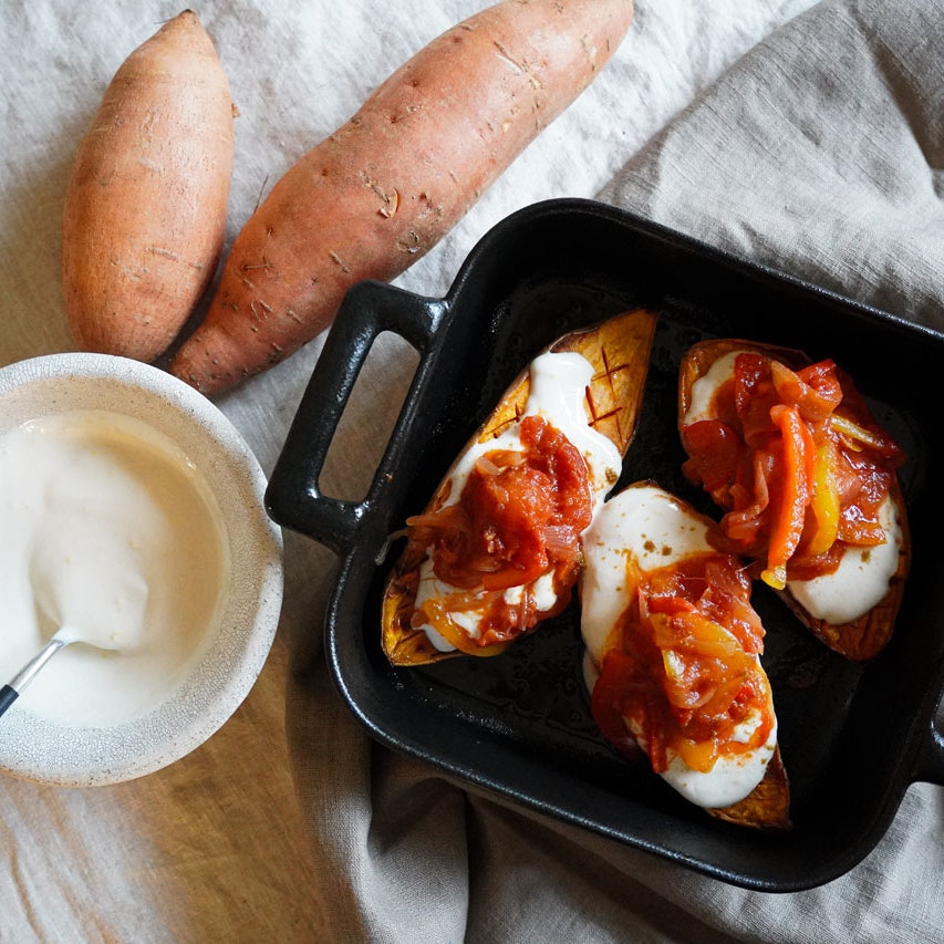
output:
[[[521,418],[543,416],[580,450],[590,471],[592,511],[595,515],[602,507],[606,492],[620,475],[623,457],[609,437],[598,433],[589,424],[584,402],[585,390],[592,376],[593,366],[580,354],[573,352],[541,354],[531,362],[531,388]],[[494,439],[475,444],[460,458],[450,476],[452,491],[447,505],[458,501],[476,461],[492,449],[523,452],[520,422],[512,424]],[[530,589],[535,593],[539,612],[552,609],[557,602],[552,573],[540,577]],[[422,609],[426,600],[454,591],[455,588],[436,579],[433,573],[433,562],[427,556],[419,569],[416,608]],[[506,591],[505,598],[509,603],[515,603],[521,599],[522,592],[522,588],[512,587]],[[469,635],[469,639],[478,639],[481,616],[477,611],[453,612],[450,616]],[[454,649],[452,643],[443,639],[432,626],[425,625],[423,629],[438,650],[447,652]]]

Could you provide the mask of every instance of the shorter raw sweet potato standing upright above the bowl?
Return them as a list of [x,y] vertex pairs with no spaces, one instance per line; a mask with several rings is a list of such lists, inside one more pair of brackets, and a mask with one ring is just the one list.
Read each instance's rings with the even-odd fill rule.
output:
[[177,336],[222,250],[234,110],[189,10],[121,65],[82,141],[62,227],[75,344],[152,361]]

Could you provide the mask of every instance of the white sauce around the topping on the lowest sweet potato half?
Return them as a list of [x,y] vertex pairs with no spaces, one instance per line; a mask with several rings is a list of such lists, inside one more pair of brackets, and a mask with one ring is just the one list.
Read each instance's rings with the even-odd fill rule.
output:
[[[627,558],[643,571],[676,563],[694,553],[712,553],[706,523],[676,498],[655,486],[634,486],[612,498],[588,528],[583,539],[585,569],[581,574],[581,634],[587,646],[583,677],[592,692],[606,641],[632,600],[626,579]],[[770,707],[772,714],[772,706]],[[747,740],[760,724],[759,713],[737,733]],[[643,750],[639,728],[627,727]],[[743,800],[764,779],[777,745],[776,718],[766,744],[732,757],[719,757],[708,771],[693,770],[678,756],[670,757],[661,774],[682,796],[701,807],[728,807]]]

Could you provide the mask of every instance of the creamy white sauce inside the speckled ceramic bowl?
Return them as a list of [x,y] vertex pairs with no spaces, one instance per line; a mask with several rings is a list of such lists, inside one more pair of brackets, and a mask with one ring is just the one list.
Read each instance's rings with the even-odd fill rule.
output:
[[0,436],[0,674],[60,627],[70,645],[17,710],[112,726],[159,704],[203,652],[229,580],[225,525],[180,449],[141,421],[72,411]]

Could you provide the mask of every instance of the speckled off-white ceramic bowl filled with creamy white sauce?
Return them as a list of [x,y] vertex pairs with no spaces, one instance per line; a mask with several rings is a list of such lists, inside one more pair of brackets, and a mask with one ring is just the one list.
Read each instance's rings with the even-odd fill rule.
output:
[[[0,369],[0,677],[70,645],[0,719],[0,772],[115,784],[201,745],[274,641],[282,536],[209,400],[157,367],[65,353]],[[81,625],[84,624],[84,625]]]

